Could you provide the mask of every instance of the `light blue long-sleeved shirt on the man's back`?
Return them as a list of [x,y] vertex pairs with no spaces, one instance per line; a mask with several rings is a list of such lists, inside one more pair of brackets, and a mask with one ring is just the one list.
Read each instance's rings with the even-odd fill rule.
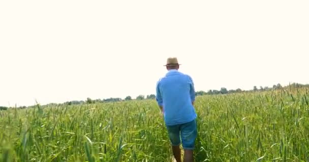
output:
[[178,70],[169,70],[157,82],[157,103],[163,106],[166,125],[187,123],[197,117],[192,102],[195,90],[191,76]]

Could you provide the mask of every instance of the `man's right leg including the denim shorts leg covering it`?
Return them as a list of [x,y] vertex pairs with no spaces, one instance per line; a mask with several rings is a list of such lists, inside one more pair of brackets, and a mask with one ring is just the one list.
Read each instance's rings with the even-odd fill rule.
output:
[[193,150],[197,137],[196,120],[180,126],[182,146],[184,149],[183,162],[193,162]]

